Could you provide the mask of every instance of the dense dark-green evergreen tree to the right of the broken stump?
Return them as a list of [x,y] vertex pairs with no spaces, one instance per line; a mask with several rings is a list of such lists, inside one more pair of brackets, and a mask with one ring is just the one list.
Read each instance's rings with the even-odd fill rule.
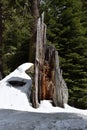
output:
[[87,108],[87,37],[82,1],[45,1],[48,42],[59,51],[69,104]]

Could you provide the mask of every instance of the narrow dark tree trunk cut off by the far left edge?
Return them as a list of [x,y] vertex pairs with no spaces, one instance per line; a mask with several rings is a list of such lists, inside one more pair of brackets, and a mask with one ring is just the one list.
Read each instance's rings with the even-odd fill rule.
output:
[[0,79],[3,75],[3,62],[2,62],[2,3],[0,2]]

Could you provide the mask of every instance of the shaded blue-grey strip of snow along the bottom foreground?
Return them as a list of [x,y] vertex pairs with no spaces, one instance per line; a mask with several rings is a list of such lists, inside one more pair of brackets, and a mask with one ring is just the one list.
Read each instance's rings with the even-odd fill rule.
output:
[[1,110],[0,130],[87,130],[87,120],[70,113]]

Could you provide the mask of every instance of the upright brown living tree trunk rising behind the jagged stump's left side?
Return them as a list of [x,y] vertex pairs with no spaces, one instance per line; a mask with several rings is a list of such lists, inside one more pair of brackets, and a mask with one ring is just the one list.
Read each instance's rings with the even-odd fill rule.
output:
[[39,18],[39,0],[31,0],[31,13],[33,16],[32,37],[29,45],[29,62],[35,63],[37,20]]

